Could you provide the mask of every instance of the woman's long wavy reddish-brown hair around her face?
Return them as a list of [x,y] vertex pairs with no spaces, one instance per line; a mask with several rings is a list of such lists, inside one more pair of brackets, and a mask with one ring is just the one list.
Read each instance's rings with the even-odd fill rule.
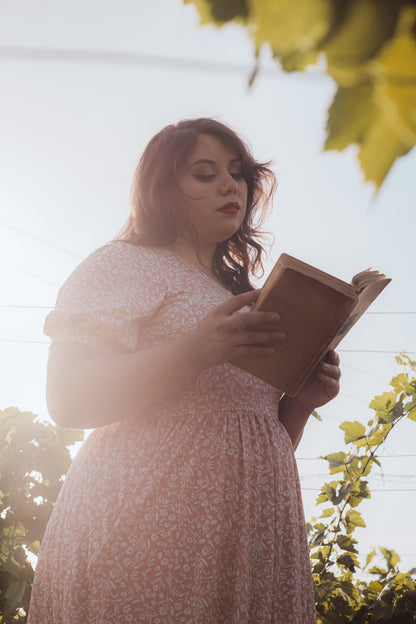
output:
[[214,275],[233,294],[252,290],[250,276],[263,271],[261,245],[264,222],[276,178],[270,163],[254,160],[240,137],[224,124],[210,118],[187,119],[166,126],[147,145],[137,165],[132,190],[130,216],[115,240],[135,245],[168,247],[177,237],[178,226],[195,233],[179,209],[177,175],[195,147],[198,137],[208,134],[219,139],[241,161],[247,183],[247,208],[239,230],[217,244],[213,259]]

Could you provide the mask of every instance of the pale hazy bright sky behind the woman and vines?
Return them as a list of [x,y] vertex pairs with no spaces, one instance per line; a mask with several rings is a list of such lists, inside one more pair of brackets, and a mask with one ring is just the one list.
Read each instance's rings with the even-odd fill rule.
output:
[[[201,28],[195,8],[180,0],[0,0],[0,339],[24,341],[1,342],[0,409],[48,417],[45,308],[75,266],[120,229],[153,134],[182,118],[215,116],[257,158],[273,161],[279,187],[267,222],[276,238],[268,268],[285,251],[346,281],[369,266],[393,279],[371,309],[378,314],[365,315],[340,346],[341,394],[298,448],[309,519],[330,478],[326,462],[305,458],[342,450],[339,424],[367,422],[369,401],[400,370],[394,354],[362,351],[416,354],[416,152],[396,162],[375,196],[355,147],[322,152],[333,83],[318,70],[286,75],[269,56],[263,50],[249,89],[253,46],[244,30]],[[415,423],[389,438],[382,472],[370,477],[377,491],[359,508],[367,528],[354,533],[362,554],[397,550],[403,570],[416,565],[415,440]]]

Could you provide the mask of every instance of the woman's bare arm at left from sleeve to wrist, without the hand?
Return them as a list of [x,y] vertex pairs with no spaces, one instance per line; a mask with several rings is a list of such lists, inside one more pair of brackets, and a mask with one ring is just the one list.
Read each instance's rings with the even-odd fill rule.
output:
[[48,410],[62,427],[108,425],[179,389],[202,370],[186,338],[114,356],[58,343],[49,353]]

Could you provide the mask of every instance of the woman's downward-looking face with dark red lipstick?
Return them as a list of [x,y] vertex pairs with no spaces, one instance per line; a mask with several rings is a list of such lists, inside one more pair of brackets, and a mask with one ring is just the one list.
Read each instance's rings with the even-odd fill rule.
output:
[[[178,199],[201,247],[215,248],[240,228],[247,207],[241,161],[209,134],[201,134],[179,172]],[[189,238],[183,228],[179,235]]]

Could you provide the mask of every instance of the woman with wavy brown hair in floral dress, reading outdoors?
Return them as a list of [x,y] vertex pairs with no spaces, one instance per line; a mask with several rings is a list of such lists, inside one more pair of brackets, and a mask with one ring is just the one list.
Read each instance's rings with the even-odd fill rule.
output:
[[226,126],[168,126],[124,233],[60,290],[48,406],[95,431],[45,533],[31,624],[315,622],[293,449],[338,392],[338,356],[280,403],[232,365],[285,339],[248,307],[273,186]]

